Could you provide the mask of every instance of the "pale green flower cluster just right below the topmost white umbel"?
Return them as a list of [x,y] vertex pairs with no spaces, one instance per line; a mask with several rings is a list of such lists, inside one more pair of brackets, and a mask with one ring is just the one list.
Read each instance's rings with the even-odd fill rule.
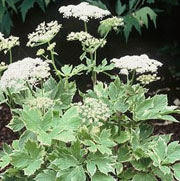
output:
[[117,31],[119,26],[124,25],[124,19],[114,16],[112,18],[107,18],[105,20],[102,20],[100,22],[100,25],[104,28],[112,28],[115,31]]

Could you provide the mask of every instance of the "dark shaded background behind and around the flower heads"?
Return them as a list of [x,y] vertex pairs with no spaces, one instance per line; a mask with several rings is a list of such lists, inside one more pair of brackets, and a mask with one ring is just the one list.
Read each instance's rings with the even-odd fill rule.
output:
[[[72,4],[78,4],[79,0],[71,1]],[[60,33],[56,36],[57,42],[56,52],[59,54],[57,57],[57,64],[73,64],[78,65],[80,63],[79,56],[81,55],[81,46],[78,42],[67,42],[66,36],[74,31],[83,30],[83,23],[77,19],[63,19],[59,14],[58,9],[62,5],[68,5],[68,0],[57,1],[52,3],[46,14],[40,9],[35,7],[32,9],[26,18],[26,22],[23,24],[20,15],[14,16],[14,28],[12,34],[19,36],[21,46],[13,49],[14,61],[20,60],[24,57],[36,57],[36,51],[38,48],[26,47],[27,34],[34,31],[37,25],[43,21],[49,22],[52,20],[58,20],[63,25]],[[161,4],[159,4],[161,8]],[[147,54],[150,58],[157,59],[163,62],[164,66],[159,72],[161,80],[154,82],[148,86],[150,89],[149,95],[154,93],[168,94],[169,104],[172,105],[175,99],[180,99],[180,26],[178,26],[180,18],[179,6],[174,7],[171,13],[161,12],[157,19],[157,28],[153,27],[150,23],[149,29],[143,29],[142,36],[136,31],[133,31],[130,35],[128,43],[125,42],[122,35],[116,35],[111,32],[108,36],[108,44],[98,52],[99,62],[105,57],[109,61],[112,58],[119,58],[125,55],[140,55]],[[99,37],[97,34],[98,21],[90,21],[88,24],[89,32]],[[0,54],[0,60],[8,60],[8,55],[4,58]],[[176,75],[177,74],[177,75]],[[107,77],[99,76],[102,81],[107,81]],[[89,76],[77,77],[77,84],[81,90],[86,90],[90,86]],[[2,105],[0,109],[0,146],[2,142],[10,143],[12,139],[15,139],[17,135],[12,134],[5,125],[8,124],[11,119],[10,111],[7,106]],[[177,116],[180,120],[180,116]],[[155,126],[155,133],[174,133],[173,139],[180,140],[180,124],[161,125]]]

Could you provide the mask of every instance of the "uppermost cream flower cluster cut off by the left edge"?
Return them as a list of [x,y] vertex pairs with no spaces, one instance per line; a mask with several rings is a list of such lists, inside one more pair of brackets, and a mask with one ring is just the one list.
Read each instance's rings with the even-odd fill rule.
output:
[[11,48],[19,45],[19,37],[9,36],[4,38],[4,35],[0,32],[0,51],[4,51],[6,54]]

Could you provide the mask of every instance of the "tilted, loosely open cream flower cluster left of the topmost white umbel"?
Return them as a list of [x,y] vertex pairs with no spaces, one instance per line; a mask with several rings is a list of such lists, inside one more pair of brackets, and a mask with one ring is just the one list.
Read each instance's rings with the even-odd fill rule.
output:
[[51,41],[61,28],[61,24],[57,21],[51,21],[50,23],[41,23],[36,28],[36,31],[28,35],[27,46],[34,47]]

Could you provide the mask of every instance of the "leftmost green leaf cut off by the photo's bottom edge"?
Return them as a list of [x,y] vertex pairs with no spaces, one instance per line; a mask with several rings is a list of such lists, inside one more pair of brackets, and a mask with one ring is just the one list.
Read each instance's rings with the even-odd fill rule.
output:
[[44,170],[43,173],[39,173],[35,179],[36,181],[55,181],[56,172],[53,170]]

